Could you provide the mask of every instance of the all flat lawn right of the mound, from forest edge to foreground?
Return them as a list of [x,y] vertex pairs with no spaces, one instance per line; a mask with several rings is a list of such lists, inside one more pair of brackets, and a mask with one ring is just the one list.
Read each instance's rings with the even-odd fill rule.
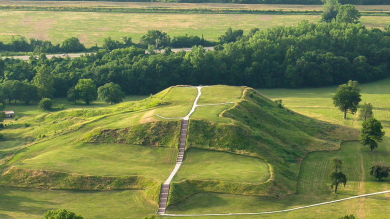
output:
[[[361,84],[362,99],[374,105],[374,115],[382,122],[386,135],[379,147],[369,152],[357,141],[345,142],[339,150],[330,152],[309,153],[302,160],[297,181],[297,193],[280,199],[260,196],[240,196],[218,193],[198,193],[176,205],[170,205],[169,212],[206,213],[206,212],[261,212],[279,210],[294,206],[318,203],[338,199],[349,195],[375,192],[390,189],[390,179],[376,181],[368,175],[370,164],[377,160],[390,163],[390,79]],[[336,87],[305,89],[259,89],[261,93],[272,99],[282,99],[286,107],[318,119],[331,121],[353,127],[359,127],[356,116],[348,114],[349,119],[342,119],[342,112],[332,107],[331,96]],[[352,117],[354,119],[352,119]],[[344,160],[344,171],[347,176],[346,187],[340,187],[339,194],[332,194],[327,186],[326,175],[328,160],[338,156]],[[284,213],[245,215],[245,218],[329,218],[354,213],[358,218],[384,218],[390,210],[389,194],[375,195],[359,199],[315,206]],[[224,216],[225,218],[242,218],[242,216]],[[188,217],[200,218],[200,217]]]

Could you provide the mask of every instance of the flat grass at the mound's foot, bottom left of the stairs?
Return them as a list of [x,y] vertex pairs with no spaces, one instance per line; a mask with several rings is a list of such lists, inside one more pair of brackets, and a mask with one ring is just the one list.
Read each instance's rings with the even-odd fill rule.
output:
[[0,217],[42,218],[49,209],[65,208],[84,218],[142,218],[156,204],[142,190],[64,191],[0,187]]

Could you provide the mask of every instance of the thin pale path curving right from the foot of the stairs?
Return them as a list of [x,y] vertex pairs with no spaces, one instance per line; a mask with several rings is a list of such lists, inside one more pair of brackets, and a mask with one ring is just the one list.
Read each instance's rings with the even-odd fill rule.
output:
[[326,201],[326,202],[322,202],[322,203],[310,204],[310,205],[306,205],[306,206],[295,207],[295,208],[290,208],[290,209],[285,209],[285,210],[276,210],[276,211],[266,211],[266,212],[256,212],[256,213],[209,213],[209,214],[170,214],[170,213],[161,213],[161,215],[165,215],[165,216],[218,216],[218,215],[245,215],[245,214],[279,213],[279,212],[297,210],[297,209],[306,208],[306,207],[318,206],[318,205],[322,205],[322,204],[330,204],[330,203],[343,201],[343,200],[347,200],[347,199],[352,199],[352,198],[356,198],[356,197],[364,197],[364,196],[369,196],[369,195],[374,195],[374,194],[383,194],[383,193],[388,193],[388,192],[390,192],[390,190],[379,191],[379,192],[368,193],[368,194],[360,194],[360,195],[347,197],[347,198],[342,198],[342,199],[338,199],[338,200]]

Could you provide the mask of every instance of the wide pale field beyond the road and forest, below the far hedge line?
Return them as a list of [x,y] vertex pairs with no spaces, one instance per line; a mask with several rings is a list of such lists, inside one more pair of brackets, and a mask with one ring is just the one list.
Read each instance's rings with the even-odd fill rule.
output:
[[[319,15],[264,15],[264,14],[180,14],[180,13],[108,13],[108,12],[61,12],[61,11],[0,11],[0,38],[6,41],[12,35],[27,39],[46,39],[60,43],[76,36],[86,46],[102,45],[111,36],[121,40],[132,37],[138,42],[149,29],[177,35],[204,35],[207,40],[217,40],[229,27],[261,29],[276,25],[296,25],[301,20],[316,22]],[[64,22],[66,20],[66,22]],[[390,16],[362,16],[361,23],[367,28],[383,28],[390,23]],[[212,21],[212,25],[204,25]]]

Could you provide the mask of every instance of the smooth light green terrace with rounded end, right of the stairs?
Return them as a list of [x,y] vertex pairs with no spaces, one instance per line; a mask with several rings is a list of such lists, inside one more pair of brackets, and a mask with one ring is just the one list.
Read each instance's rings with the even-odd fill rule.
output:
[[200,179],[261,183],[269,177],[268,164],[257,157],[189,148],[173,181]]

